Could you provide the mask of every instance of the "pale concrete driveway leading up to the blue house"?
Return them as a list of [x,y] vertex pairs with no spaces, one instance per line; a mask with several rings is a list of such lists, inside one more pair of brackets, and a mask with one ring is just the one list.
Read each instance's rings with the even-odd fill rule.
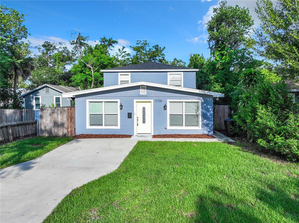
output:
[[72,189],[114,171],[138,140],[75,139],[0,170],[0,221],[42,222]]

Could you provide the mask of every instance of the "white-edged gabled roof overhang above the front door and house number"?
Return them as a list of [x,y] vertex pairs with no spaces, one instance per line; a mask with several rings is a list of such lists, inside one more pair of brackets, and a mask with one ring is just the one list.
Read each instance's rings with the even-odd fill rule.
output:
[[210,95],[213,97],[224,97],[223,93],[210,92],[210,91],[204,91],[204,90],[198,90],[198,89],[192,89],[192,88],[176,87],[176,86],[170,86],[170,85],[166,85],[166,84],[158,84],[158,83],[151,83],[151,82],[145,82],[145,81],[113,85],[113,86],[102,87],[102,88],[94,88],[94,89],[88,89],[88,90],[82,90],[82,91],[76,91],[76,92],[68,92],[68,93],[63,93],[62,97],[75,97],[76,95],[83,95],[83,94],[89,94],[89,93],[93,93],[93,92],[102,92],[102,91],[107,91],[107,90],[121,89],[121,88],[134,87],[134,86],[140,86],[140,85],[172,89],[172,90],[177,90],[177,91],[182,91],[182,92],[204,94],[204,95]]

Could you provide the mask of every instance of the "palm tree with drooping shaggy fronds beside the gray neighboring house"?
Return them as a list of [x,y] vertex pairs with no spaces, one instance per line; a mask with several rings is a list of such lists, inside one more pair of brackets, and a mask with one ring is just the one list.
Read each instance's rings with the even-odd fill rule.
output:
[[10,75],[11,77],[13,77],[13,100],[16,100],[16,90],[19,78],[21,77],[23,80],[26,80],[31,75],[31,71],[33,69],[34,62],[33,58],[31,57],[25,57],[20,60],[14,60],[13,65],[10,69]]

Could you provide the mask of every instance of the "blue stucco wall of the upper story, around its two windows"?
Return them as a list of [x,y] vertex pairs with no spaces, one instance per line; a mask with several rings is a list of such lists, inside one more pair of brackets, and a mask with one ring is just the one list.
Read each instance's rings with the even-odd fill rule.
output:
[[[167,84],[167,72],[130,72],[131,83],[146,81]],[[183,72],[183,87],[196,88],[195,72]],[[118,72],[104,72],[104,87],[118,85]]]

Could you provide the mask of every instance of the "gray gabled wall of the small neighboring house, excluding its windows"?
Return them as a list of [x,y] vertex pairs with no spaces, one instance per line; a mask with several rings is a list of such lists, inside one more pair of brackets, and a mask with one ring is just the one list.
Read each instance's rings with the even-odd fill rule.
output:
[[[33,96],[41,96],[41,105],[45,104],[46,107],[51,106],[54,103],[54,96],[61,96],[62,94],[52,88],[50,88],[50,93],[46,94],[45,87],[42,87],[28,95],[25,95],[25,109],[33,109]],[[68,100],[66,97],[62,97],[61,106],[71,106],[71,99]]]

